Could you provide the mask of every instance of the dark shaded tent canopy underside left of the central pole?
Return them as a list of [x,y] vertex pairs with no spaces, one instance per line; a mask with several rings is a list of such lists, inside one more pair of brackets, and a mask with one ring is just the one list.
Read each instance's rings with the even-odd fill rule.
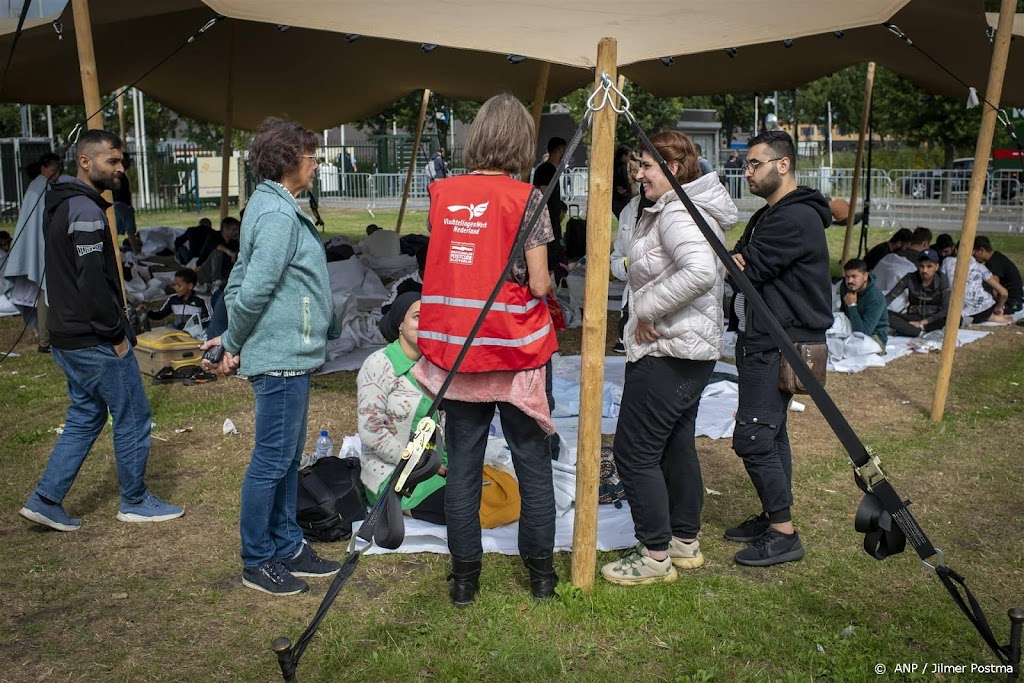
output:
[[[216,15],[200,0],[92,0],[90,10],[101,92],[133,82]],[[62,25],[63,40],[48,24],[25,31],[4,99],[30,104],[82,101],[70,6]],[[9,30],[14,27],[16,20]],[[12,38],[0,37],[0,53],[9,52]],[[273,24],[228,18],[138,87],[180,114],[224,123],[228,73],[233,69],[234,127],[254,129],[264,117],[276,115],[321,129],[376,114],[424,87],[458,99],[482,100],[509,91],[528,100],[542,66],[532,59],[511,63],[506,54],[496,52],[450,47],[424,52],[420,43],[371,37],[349,42],[329,31],[281,31]],[[554,67],[548,92],[557,98],[590,80],[586,69]]]

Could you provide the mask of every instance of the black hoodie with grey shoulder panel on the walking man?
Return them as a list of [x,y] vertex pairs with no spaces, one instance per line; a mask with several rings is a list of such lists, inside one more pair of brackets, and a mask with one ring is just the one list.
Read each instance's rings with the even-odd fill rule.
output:
[[106,222],[110,204],[78,178],[61,175],[50,184],[45,206],[50,343],[61,349],[121,343],[125,314]]

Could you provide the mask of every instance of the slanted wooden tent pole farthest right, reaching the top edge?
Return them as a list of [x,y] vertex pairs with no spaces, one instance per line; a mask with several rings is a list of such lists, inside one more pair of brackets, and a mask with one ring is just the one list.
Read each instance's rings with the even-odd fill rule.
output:
[[[978,145],[974,150],[974,168],[971,171],[971,189],[967,196],[964,213],[964,227],[961,230],[959,249],[956,251],[956,271],[953,275],[949,310],[942,339],[942,356],[939,361],[939,379],[932,399],[932,420],[938,422],[946,410],[949,393],[949,378],[953,371],[953,353],[956,351],[956,332],[959,330],[961,312],[964,310],[964,291],[967,289],[967,273],[974,252],[974,234],[978,229],[978,214],[981,211],[982,195],[985,191],[985,176],[988,156],[995,133],[996,108],[1002,96],[1002,78],[1007,73],[1007,58],[1010,56],[1010,38],[1014,25],[1017,0],[1002,0],[999,5],[999,25],[995,30],[995,46],[992,49],[992,65],[988,71],[988,86],[985,88],[984,112],[981,115],[981,131]],[[991,105],[989,105],[991,102]]]

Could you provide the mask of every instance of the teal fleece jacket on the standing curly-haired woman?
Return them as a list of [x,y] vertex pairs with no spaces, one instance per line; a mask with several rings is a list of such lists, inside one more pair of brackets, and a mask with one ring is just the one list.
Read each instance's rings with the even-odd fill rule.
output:
[[240,242],[224,292],[224,350],[241,353],[248,377],[319,368],[341,330],[316,227],[288,190],[264,180],[246,205]]

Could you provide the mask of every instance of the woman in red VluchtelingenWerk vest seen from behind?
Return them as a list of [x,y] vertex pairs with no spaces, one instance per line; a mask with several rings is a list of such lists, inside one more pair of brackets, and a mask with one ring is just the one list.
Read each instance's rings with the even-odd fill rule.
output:
[[510,255],[514,264],[469,353],[444,395],[449,449],[444,506],[452,553],[450,596],[476,596],[483,549],[480,483],[487,429],[497,407],[519,479],[519,554],[539,599],[554,596],[555,498],[546,435],[555,429],[545,391],[546,365],[558,347],[544,297],[551,289],[547,211],[511,254],[519,230],[541,206],[541,193],[512,176],[534,162],[534,121],[512,95],[492,97],[469,129],[469,173],[430,185],[430,247],[420,308],[423,358],[413,370],[435,394],[465,344]]

